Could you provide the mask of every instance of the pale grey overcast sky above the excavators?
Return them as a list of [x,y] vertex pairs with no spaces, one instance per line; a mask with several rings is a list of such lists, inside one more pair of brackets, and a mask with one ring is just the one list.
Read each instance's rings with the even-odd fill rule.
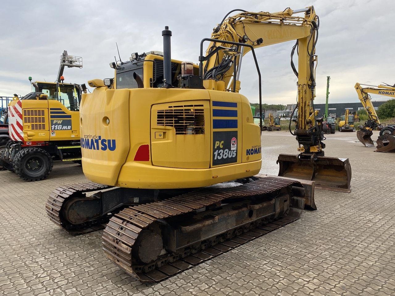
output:
[[[243,3],[244,2],[244,3]],[[0,32],[0,96],[30,92],[33,81],[55,81],[63,50],[83,57],[83,68],[66,68],[65,82],[114,77],[109,63],[132,52],[163,50],[161,32],[173,32],[172,58],[198,62],[199,44],[228,13],[282,11],[313,5],[320,17],[316,47],[316,103],[358,101],[355,82],[394,84],[395,2],[378,1],[4,1]],[[295,103],[296,77],[290,67],[294,41],[256,51],[264,103]],[[258,102],[252,56],[243,59],[241,93]],[[372,96],[373,97],[373,96]],[[373,97],[384,99],[380,96]]]

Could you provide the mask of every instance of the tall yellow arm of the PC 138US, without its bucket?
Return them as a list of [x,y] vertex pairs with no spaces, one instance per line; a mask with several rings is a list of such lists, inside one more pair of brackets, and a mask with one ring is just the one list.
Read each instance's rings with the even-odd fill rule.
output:
[[[304,17],[295,15],[304,12]],[[212,39],[239,42],[250,47],[231,45],[224,42],[211,41],[206,51],[209,56],[214,50],[221,48],[204,63],[203,85],[216,90],[233,90],[239,92],[239,73],[243,56],[256,49],[276,43],[296,40],[292,56],[296,49],[299,54],[298,69],[293,61],[291,66],[298,78],[297,129],[295,135],[299,142],[298,151],[311,157],[311,153],[324,155],[325,145],[321,122],[316,123],[313,99],[316,82],[314,64],[317,60],[315,45],[318,37],[318,16],[314,7],[293,11],[290,8],[281,12],[242,12],[224,19],[211,35]]]

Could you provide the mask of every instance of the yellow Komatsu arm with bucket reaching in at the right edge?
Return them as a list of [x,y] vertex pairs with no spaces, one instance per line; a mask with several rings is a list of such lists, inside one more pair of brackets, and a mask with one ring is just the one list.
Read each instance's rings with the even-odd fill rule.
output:
[[378,86],[365,85],[357,82],[355,84],[355,90],[358,94],[359,101],[361,101],[363,108],[368,114],[368,120],[363,124],[363,126],[358,126],[359,131],[357,131],[357,138],[365,145],[365,147],[373,147],[374,143],[371,139],[371,135],[373,134],[372,131],[376,127],[380,126],[381,123],[376,110],[374,110],[370,94],[395,97],[395,87],[382,84]]

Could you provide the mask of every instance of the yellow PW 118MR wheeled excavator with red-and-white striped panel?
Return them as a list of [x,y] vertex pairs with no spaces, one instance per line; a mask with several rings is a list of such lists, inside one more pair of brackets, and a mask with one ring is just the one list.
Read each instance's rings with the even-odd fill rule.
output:
[[[64,82],[65,67],[82,67],[82,58],[64,51],[55,82],[29,81],[32,92],[8,105],[9,137],[0,147],[0,166],[26,181],[45,179],[53,161],[81,161],[79,103],[82,88]],[[85,87],[85,85],[83,85]]]

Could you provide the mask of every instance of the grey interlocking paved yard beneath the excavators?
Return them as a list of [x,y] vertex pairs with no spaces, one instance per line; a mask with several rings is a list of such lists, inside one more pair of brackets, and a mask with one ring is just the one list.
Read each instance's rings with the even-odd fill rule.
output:
[[[102,231],[72,236],[47,219],[49,192],[85,180],[79,165],[56,163],[34,183],[0,172],[0,295],[395,295],[395,154],[355,133],[327,138],[327,156],[350,158],[351,193],[316,190],[317,211],[149,285],[105,258]],[[276,174],[278,153],[296,146],[285,131],[264,132],[261,172]]]

